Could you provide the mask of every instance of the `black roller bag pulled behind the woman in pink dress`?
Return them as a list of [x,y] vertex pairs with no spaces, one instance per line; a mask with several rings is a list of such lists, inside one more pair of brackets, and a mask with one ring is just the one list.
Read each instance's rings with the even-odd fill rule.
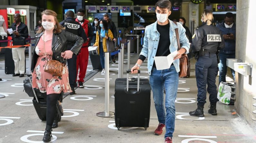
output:
[[[29,97],[34,97],[32,102],[39,119],[41,119],[42,121],[46,121],[47,94],[46,92],[45,93],[40,92],[39,89],[32,88],[32,76],[31,74],[28,74],[27,76],[28,77],[24,80],[24,90]],[[57,100],[57,104],[56,104],[57,115],[55,115],[55,118],[59,118],[59,121],[61,121],[61,116],[63,116],[63,108],[61,105],[62,97],[63,97],[63,92],[61,93],[60,99]]]

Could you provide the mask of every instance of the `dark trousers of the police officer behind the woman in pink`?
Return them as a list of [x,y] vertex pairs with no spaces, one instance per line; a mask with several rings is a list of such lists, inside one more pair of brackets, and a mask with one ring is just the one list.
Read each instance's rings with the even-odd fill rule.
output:
[[68,69],[69,69],[69,84],[71,88],[74,88],[77,86],[76,84],[76,79],[77,79],[77,75],[76,75],[76,59],[77,56],[75,54],[73,54],[71,59],[68,59]]

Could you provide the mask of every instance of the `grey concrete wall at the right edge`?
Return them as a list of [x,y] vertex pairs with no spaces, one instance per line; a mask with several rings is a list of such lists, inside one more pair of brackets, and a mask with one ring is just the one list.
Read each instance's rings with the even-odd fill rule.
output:
[[[237,1],[236,14],[236,59],[242,62],[253,64],[252,77],[245,77],[236,72],[236,101],[235,108],[238,114],[244,118],[249,125],[256,130],[256,114],[252,111],[256,110],[252,104],[256,100],[252,99],[256,96],[256,47],[255,47],[255,0]],[[254,8],[255,9],[255,8]]]

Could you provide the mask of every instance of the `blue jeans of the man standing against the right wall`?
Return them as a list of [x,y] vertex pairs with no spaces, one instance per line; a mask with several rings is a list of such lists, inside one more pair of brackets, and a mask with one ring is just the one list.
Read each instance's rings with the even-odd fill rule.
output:
[[[227,59],[235,58],[235,53],[233,54],[223,54],[219,53],[220,63],[218,64],[220,76],[219,76],[219,83],[226,82],[226,74],[227,74]],[[235,80],[235,71],[231,69],[233,79]]]

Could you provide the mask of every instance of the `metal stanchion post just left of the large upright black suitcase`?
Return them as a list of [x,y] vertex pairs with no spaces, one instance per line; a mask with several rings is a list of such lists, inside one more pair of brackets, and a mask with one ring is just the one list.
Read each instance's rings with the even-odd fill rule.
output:
[[114,117],[109,111],[109,52],[105,52],[105,111],[96,114],[99,117]]

